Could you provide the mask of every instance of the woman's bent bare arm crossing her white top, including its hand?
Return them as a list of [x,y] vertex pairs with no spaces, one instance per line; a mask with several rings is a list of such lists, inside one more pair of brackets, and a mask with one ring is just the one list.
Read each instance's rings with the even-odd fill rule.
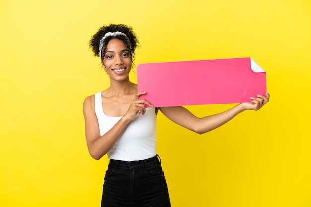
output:
[[126,114],[124,114],[124,116],[103,136],[100,136],[99,132],[98,120],[95,113],[94,95],[85,99],[83,103],[83,113],[85,119],[86,142],[88,151],[94,159],[99,160],[102,156],[106,155],[122,135],[127,125],[138,113],[144,115],[146,111],[144,104],[152,107],[146,100],[138,100],[138,97],[144,93],[145,92],[139,92],[135,95]]

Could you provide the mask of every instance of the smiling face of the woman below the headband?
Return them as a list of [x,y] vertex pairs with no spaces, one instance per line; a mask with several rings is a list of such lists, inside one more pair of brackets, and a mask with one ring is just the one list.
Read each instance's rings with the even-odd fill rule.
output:
[[122,40],[111,39],[108,42],[103,67],[111,80],[123,81],[128,79],[132,60],[130,52]]

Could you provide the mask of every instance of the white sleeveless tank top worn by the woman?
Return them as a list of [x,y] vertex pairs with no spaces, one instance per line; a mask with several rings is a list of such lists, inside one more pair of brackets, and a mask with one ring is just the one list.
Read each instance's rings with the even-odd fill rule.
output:
[[[95,112],[100,136],[109,131],[122,118],[122,116],[107,116],[104,113],[101,92],[95,94]],[[108,159],[123,161],[137,161],[156,156],[155,108],[146,108],[144,115],[136,115],[107,155]]]

